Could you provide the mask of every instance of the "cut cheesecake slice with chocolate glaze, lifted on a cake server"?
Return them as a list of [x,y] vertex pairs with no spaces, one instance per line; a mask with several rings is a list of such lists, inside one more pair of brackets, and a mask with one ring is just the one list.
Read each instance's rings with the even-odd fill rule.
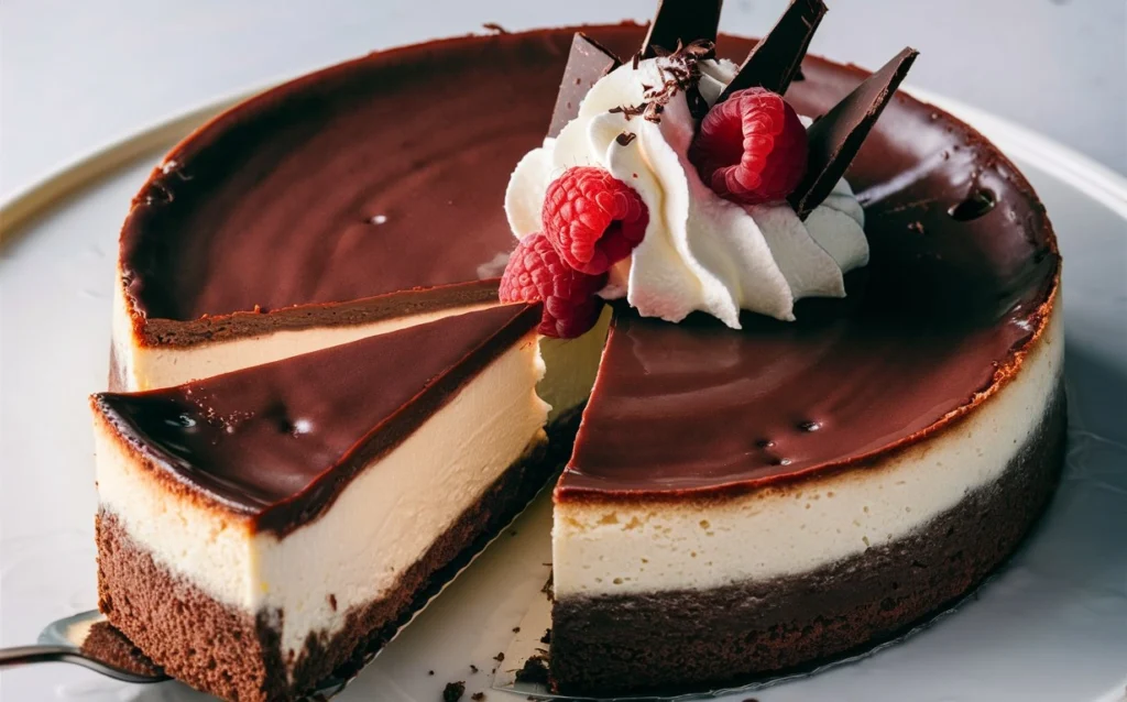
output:
[[380,646],[556,468],[540,314],[94,396],[103,612],[224,699],[293,697]]

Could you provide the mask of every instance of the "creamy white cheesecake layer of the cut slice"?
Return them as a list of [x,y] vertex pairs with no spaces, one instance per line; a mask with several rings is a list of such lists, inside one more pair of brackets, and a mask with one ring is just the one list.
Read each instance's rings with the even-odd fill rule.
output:
[[321,517],[282,539],[174,494],[96,418],[100,507],[157,562],[215,599],[250,614],[281,610],[283,658],[293,661],[286,654],[300,655],[310,632],[331,636],[350,608],[384,597],[438,535],[544,439],[548,408],[534,391],[542,374],[530,335],[364,468]]

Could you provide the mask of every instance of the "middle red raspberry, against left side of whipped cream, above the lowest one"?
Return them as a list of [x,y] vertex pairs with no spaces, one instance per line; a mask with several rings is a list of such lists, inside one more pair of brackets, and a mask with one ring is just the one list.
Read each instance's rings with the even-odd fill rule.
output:
[[633,188],[601,168],[569,168],[548,186],[544,236],[576,270],[598,275],[630,255],[649,224]]

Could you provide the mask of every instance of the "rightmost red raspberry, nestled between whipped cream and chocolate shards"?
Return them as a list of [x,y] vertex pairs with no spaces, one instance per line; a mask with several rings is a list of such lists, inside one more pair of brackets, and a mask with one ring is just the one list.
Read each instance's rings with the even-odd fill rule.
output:
[[808,149],[795,108],[779,94],[747,88],[704,115],[689,160],[717,195],[755,205],[798,187]]

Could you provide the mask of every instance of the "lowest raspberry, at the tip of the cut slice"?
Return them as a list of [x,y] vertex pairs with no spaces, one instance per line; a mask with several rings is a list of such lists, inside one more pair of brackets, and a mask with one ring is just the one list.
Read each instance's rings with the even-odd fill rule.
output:
[[543,301],[540,334],[571,339],[595,326],[603,309],[603,299],[595,293],[605,285],[605,273],[588,275],[571,268],[536,232],[522,239],[509,256],[500,278],[500,301]]

